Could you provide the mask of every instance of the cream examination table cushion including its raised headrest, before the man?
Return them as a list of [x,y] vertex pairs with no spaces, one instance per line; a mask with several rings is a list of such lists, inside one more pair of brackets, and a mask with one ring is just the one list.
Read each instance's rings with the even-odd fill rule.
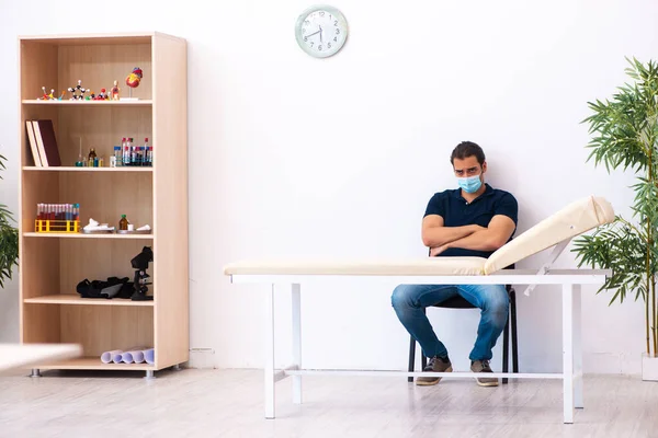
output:
[[225,275],[488,275],[614,220],[610,203],[589,196],[574,201],[489,256],[404,260],[266,260],[230,263]]

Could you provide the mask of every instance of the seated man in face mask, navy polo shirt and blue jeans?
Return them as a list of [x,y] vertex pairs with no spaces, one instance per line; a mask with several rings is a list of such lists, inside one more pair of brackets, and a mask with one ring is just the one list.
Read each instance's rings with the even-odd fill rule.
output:
[[[512,238],[518,222],[517,199],[485,183],[487,162],[483,149],[464,141],[450,161],[460,188],[434,194],[422,220],[422,242],[431,256],[489,257]],[[503,285],[399,285],[393,291],[395,312],[429,358],[423,371],[450,372],[445,345],[436,337],[424,309],[462,296],[481,309],[470,370],[492,372],[491,349],[508,320],[509,297]],[[436,384],[439,377],[420,377],[416,384]],[[477,378],[481,387],[497,387],[496,378]]]

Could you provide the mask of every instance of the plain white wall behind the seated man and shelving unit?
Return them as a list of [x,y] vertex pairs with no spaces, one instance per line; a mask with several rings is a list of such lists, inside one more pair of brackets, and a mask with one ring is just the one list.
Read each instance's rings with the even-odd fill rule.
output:
[[[16,35],[157,30],[189,41],[190,336],[192,347],[214,350],[193,354],[192,366],[261,365],[263,289],[230,285],[222,274],[228,262],[424,254],[422,212],[434,192],[455,186],[447,158],[462,140],[484,147],[488,182],[518,197],[520,231],[592,193],[629,211],[632,178],[585,163],[579,122],[588,101],[626,80],[624,56],[655,55],[658,3],[649,0],[334,1],[351,34],[325,60],[296,46],[293,26],[306,1],[0,4],[0,145],[13,160],[1,201],[10,206]],[[559,265],[575,266],[571,255]],[[408,336],[389,290],[353,284],[306,292],[306,366],[405,367]],[[609,296],[594,292],[583,293],[586,371],[639,372],[642,304],[609,308]],[[18,336],[15,293],[0,295],[10,309],[3,338]],[[287,298],[276,301],[284,315]],[[554,287],[519,297],[522,370],[560,369],[559,308]],[[465,369],[477,313],[430,313]],[[277,361],[286,364],[288,324],[277,326]]]

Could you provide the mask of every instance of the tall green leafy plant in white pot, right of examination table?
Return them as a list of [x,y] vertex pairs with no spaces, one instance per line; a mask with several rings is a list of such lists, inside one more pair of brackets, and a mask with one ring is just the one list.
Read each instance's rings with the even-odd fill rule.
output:
[[634,80],[611,99],[589,102],[592,136],[587,161],[611,170],[633,171],[635,197],[631,218],[616,216],[612,223],[575,240],[578,266],[612,269],[599,289],[612,293],[610,304],[627,296],[645,303],[646,353],[643,379],[658,380],[658,65],[628,59],[626,73]]

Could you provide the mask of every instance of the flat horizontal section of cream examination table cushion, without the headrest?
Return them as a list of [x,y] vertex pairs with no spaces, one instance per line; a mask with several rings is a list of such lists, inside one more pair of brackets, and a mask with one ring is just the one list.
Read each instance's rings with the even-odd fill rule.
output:
[[224,267],[225,275],[481,275],[483,257],[419,257],[402,260],[275,260],[245,261]]

